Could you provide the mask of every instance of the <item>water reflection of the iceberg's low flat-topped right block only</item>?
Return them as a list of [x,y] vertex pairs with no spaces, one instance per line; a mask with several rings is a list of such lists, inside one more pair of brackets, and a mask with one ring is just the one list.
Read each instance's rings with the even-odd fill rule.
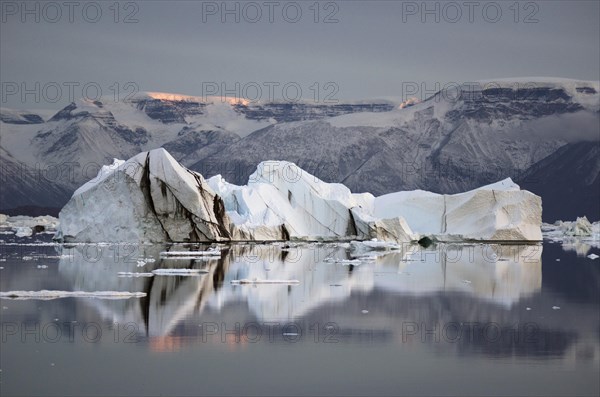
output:
[[386,273],[375,287],[421,295],[460,291],[512,305],[541,288],[541,254],[539,245],[438,245],[393,253],[378,259],[378,270]]

